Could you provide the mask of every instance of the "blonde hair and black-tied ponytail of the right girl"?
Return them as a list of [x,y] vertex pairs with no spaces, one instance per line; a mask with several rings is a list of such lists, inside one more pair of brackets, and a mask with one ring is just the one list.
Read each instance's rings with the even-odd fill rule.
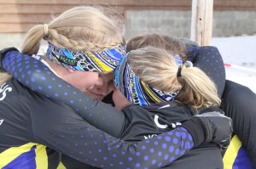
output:
[[[168,51],[169,52],[169,51]],[[217,89],[211,79],[199,68],[182,68],[177,77],[175,54],[161,48],[139,48],[128,54],[128,63],[137,76],[149,86],[164,92],[179,91],[176,100],[196,108],[219,105]]]

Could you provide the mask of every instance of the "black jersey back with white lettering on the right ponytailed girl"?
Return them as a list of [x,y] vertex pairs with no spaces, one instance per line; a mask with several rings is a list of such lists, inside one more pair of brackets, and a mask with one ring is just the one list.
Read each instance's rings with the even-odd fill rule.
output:
[[[162,132],[172,130],[191,116],[206,111],[220,111],[218,108],[195,110],[188,106],[179,105],[173,102],[152,104],[142,108],[138,105],[126,107],[126,126],[120,138],[125,140],[143,140],[152,138]],[[175,140],[172,140],[175,142]],[[169,147],[169,149],[172,149]],[[148,149],[154,153],[154,149]],[[202,157],[200,162],[199,157]],[[214,157],[214,159],[212,159]],[[202,144],[191,149],[177,161],[163,168],[223,168],[222,155],[217,144]]]

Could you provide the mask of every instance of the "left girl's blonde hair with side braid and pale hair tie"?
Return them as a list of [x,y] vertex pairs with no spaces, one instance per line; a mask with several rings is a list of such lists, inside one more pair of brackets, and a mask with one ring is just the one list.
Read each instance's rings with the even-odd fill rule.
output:
[[99,7],[71,8],[49,25],[36,25],[28,31],[22,53],[38,54],[43,38],[55,46],[73,51],[113,48],[123,42],[124,20],[120,14],[107,12]]

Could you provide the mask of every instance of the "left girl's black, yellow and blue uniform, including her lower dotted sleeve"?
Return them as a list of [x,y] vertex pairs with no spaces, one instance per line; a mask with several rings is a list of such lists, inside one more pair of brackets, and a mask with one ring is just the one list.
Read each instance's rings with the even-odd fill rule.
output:
[[[52,149],[101,168],[157,168],[194,147],[193,138],[183,127],[143,142],[127,143],[91,127],[66,104],[33,93],[15,79],[1,88],[1,168],[57,168],[61,156]],[[169,139],[183,144],[169,143]],[[159,149],[156,142],[172,145],[173,150]],[[148,147],[170,156],[151,158]]]

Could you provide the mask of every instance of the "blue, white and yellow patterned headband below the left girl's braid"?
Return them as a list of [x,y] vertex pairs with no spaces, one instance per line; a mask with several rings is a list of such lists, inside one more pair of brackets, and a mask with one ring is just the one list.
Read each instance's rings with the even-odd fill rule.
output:
[[47,57],[56,64],[72,70],[109,72],[116,68],[119,60],[126,55],[124,44],[98,52],[79,51],[56,47],[48,42]]

